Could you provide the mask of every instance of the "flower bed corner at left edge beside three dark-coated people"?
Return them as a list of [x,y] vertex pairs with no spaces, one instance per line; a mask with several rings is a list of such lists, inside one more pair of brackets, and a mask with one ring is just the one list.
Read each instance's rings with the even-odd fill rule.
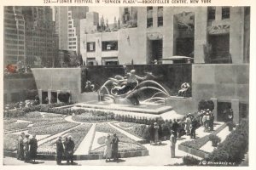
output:
[[20,134],[7,134],[3,138],[3,150],[15,151],[18,146]]

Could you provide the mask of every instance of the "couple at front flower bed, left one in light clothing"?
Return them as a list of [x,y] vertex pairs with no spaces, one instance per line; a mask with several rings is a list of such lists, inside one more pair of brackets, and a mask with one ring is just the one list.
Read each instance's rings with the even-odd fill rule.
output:
[[111,158],[113,158],[113,161],[118,161],[119,138],[117,135],[115,133],[113,136],[108,134],[105,144],[104,157],[106,158],[106,162],[111,161]]

